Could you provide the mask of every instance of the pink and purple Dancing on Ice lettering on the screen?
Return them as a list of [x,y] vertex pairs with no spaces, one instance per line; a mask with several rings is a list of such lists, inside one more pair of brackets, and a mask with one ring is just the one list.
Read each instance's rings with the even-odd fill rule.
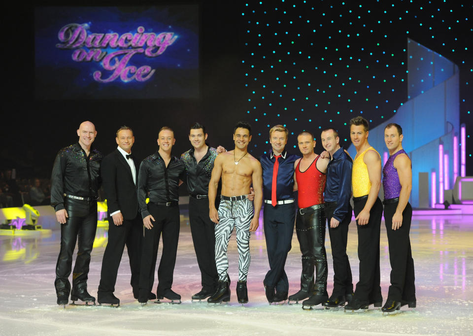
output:
[[[87,24],[70,23],[59,31],[58,38],[62,43],[57,48],[74,50],[72,60],[75,62],[101,62],[105,70],[112,71],[108,78],[103,78],[102,71],[95,71],[93,77],[101,83],[110,83],[120,77],[123,82],[149,80],[155,69],[144,65],[129,66],[128,62],[135,54],[156,57],[163,54],[166,48],[174,43],[174,33],[144,33],[144,27],[138,27],[135,34],[117,33],[88,34]],[[108,53],[103,49],[118,49]],[[126,48],[126,49],[125,49]],[[121,57],[121,59],[120,59]]]

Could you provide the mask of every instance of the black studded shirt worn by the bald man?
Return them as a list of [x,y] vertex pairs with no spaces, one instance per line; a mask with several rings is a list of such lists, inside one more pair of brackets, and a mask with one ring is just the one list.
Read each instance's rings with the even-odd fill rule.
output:
[[78,142],[61,149],[51,173],[51,205],[64,209],[64,194],[97,197],[101,186],[102,154],[91,148],[89,157]]

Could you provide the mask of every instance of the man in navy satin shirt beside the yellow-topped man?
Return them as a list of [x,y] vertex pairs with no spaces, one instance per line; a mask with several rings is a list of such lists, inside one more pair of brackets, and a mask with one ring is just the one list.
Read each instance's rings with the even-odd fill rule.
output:
[[346,255],[348,225],[352,215],[350,198],[353,161],[340,147],[338,133],[334,129],[322,131],[321,140],[331,157],[327,166],[324,198],[334,261],[334,290],[324,305],[336,308],[344,306],[353,297],[353,280]]

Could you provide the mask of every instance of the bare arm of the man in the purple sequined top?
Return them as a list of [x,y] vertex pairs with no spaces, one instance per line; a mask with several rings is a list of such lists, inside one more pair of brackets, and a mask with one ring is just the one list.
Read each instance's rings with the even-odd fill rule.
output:
[[397,230],[403,225],[403,211],[409,201],[410,191],[412,189],[412,169],[407,155],[399,154],[396,159],[394,159],[394,168],[398,170],[399,182],[401,183],[399,203],[393,215],[392,226],[393,230]]

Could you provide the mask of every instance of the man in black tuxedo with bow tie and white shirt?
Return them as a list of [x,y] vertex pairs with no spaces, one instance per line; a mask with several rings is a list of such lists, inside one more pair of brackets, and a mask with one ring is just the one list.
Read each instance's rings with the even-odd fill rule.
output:
[[[101,304],[118,305],[120,300],[113,295],[118,267],[125,244],[132,278],[130,284],[135,299],[138,296],[141,236],[143,225],[138,213],[136,198],[137,161],[131,150],[135,142],[133,131],[122,126],[117,131],[118,147],[102,160],[101,175],[108,207],[108,243],[103,253],[98,301]],[[153,295],[150,293],[150,295]],[[150,300],[155,299],[150,298]]]

